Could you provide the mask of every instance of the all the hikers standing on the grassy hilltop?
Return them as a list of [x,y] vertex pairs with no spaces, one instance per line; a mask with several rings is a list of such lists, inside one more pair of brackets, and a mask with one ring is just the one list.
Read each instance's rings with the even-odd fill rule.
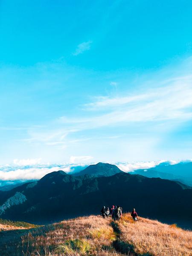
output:
[[[122,207],[118,206],[112,206],[111,209],[109,207],[103,206],[101,209],[101,214],[103,218],[108,218],[109,216],[112,217],[113,221],[118,221],[122,217]],[[137,212],[135,211],[135,208],[131,212],[131,217],[134,221],[137,221]]]

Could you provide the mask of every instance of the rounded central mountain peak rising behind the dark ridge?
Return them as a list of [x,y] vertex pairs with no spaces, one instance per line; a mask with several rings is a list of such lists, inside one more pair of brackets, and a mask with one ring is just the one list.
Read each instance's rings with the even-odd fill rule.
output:
[[117,166],[109,163],[97,163],[97,164],[92,164],[90,166],[87,166],[84,170],[81,172],[75,173],[75,176],[80,176],[80,175],[92,175],[95,177],[100,177],[100,176],[112,176],[115,175],[116,173],[122,172]]

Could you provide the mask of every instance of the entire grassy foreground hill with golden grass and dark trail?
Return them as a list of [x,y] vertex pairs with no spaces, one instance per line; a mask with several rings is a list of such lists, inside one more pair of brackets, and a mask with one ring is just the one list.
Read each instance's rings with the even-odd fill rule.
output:
[[134,222],[129,213],[118,222],[91,215],[39,227],[13,241],[0,242],[0,255],[191,256],[192,232],[145,218]]

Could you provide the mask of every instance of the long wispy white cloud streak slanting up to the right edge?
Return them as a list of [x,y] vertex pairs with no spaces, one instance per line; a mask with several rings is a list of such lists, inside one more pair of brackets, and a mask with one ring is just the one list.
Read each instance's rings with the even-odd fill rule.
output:
[[59,129],[29,131],[29,142],[39,141],[45,145],[66,148],[72,143],[90,140],[86,137],[68,138],[79,131],[140,122],[185,122],[192,119],[192,76],[161,80],[155,87],[148,88],[143,93],[100,96],[85,104],[84,109],[92,112],[87,112],[86,117],[59,117],[56,121],[61,126]]

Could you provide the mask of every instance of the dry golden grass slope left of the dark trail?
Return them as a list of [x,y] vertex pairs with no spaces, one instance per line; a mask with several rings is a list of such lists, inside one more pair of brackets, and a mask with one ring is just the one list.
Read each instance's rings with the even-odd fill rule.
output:
[[34,229],[21,242],[0,246],[0,256],[121,256],[112,246],[116,235],[110,223],[110,218],[89,216]]

